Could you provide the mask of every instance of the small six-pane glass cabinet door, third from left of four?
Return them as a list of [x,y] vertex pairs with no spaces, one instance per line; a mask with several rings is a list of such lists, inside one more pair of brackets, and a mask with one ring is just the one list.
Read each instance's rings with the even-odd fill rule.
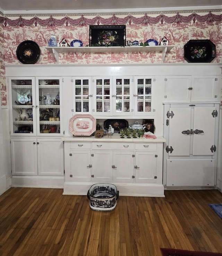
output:
[[132,115],[133,77],[114,77],[113,87],[113,115]]

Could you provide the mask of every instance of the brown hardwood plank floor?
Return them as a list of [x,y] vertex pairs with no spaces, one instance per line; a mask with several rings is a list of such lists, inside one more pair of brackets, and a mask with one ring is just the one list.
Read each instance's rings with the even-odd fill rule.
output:
[[161,256],[160,248],[222,252],[217,190],[120,196],[111,212],[62,189],[11,188],[0,196],[1,256]]

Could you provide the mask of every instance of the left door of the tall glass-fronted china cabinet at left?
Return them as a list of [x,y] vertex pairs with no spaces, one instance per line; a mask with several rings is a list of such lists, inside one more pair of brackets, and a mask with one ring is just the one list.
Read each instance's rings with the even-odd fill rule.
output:
[[9,77],[11,135],[36,134],[34,85],[33,77]]

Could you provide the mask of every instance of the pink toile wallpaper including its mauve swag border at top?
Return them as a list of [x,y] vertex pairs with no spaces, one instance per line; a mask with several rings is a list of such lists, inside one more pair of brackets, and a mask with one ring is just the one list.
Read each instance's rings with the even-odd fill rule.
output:
[[[0,14],[1,15],[1,14]],[[95,14],[94,14],[95,15]],[[127,25],[127,40],[145,42],[152,38],[160,41],[165,36],[174,48],[166,54],[165,63],[185,63],[183,46],[191,39],[210,39],[216,45],[217,56],[214,63],[221,63],[222,60],[222,12],[213,10],[199,15],[195,12],[185,15],[166,15],[125,13],[118,16],[115,14],[101,14],[100,16],[89,15],[36,15],[28,16],[27,19],[20,15],[6,17],[0,16],[0,93],[1,106],[7,107],[7,89],[5,77],[5,64],[21,65],[16,57],[16,49],[19,43],[24,40],[33,40],[41,50],[41,56],[37,64],[55,64],[56,60],[52,53],[45,49],[48,46],[46,37],[50,34],[57,36],[57,41],[66,38],[70,43],[73,39],[79,39],[86,46],[89,40],[89,25]],[[156,17],[154,17],[156,15]],[[87,16],[87,17],[86,17]],[[60,54],[61,64],[101,64],[101,63],[161,63],[161,54],[158,52],[142,53],[62,53]]]

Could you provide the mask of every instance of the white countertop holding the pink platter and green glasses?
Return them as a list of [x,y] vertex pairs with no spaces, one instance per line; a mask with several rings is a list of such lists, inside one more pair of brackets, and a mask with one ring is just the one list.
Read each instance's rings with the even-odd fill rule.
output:
[[119,133],[114,133],[110,136],[103,136],[102,138],[95,138],[95,136],[64,136],[61,138],[62,141],[91,141],[91,142],[143,142],[143,143],[156,143],[156,142],[166,142],[163,137],[156,137],[156,139],[146,139],[146,138],[120,138]]

